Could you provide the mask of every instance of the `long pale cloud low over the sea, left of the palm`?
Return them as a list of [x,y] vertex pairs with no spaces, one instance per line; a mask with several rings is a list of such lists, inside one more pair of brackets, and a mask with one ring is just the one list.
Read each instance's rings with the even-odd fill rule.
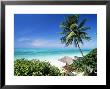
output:
[[[60,40],[48,40],[48,39],[32,39],[21,37],[17,39],[17,46],[19,47],[64,47],[64,44],[61,44]],[[18,45],[20,44],[20,45]]]

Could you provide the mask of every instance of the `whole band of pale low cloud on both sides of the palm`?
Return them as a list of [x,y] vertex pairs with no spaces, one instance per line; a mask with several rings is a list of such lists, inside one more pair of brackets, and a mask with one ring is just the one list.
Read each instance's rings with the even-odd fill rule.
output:
[[[21,47],[30,47],[30,48],[40,48],[40,47],[48,47],[48,48],[54,48],[54,47],[65,47],[65,44],[62,44],[60,40],[48,40],[48,39],[32,39],[32,38],[26,38],[22,37],[19,38],[17,44],[20,44],[18,46]],[[81,48],[94,48],[96,46],[96,43],[93,41],[90,42],[84,42],[83,45],[80,44]],[[75,48],[74,44],[68,46],[68,48]]]

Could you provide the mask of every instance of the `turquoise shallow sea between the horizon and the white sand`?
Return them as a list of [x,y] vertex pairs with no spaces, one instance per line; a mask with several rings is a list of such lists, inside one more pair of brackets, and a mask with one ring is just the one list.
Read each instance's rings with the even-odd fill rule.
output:
[[[90,49],[83,49],[84,55],[90,52]],[[58,60],[64,56],[74,58],[81,57],[79,50],[72,48],[15,48],[14,59],[39,59],[39,60]]]

